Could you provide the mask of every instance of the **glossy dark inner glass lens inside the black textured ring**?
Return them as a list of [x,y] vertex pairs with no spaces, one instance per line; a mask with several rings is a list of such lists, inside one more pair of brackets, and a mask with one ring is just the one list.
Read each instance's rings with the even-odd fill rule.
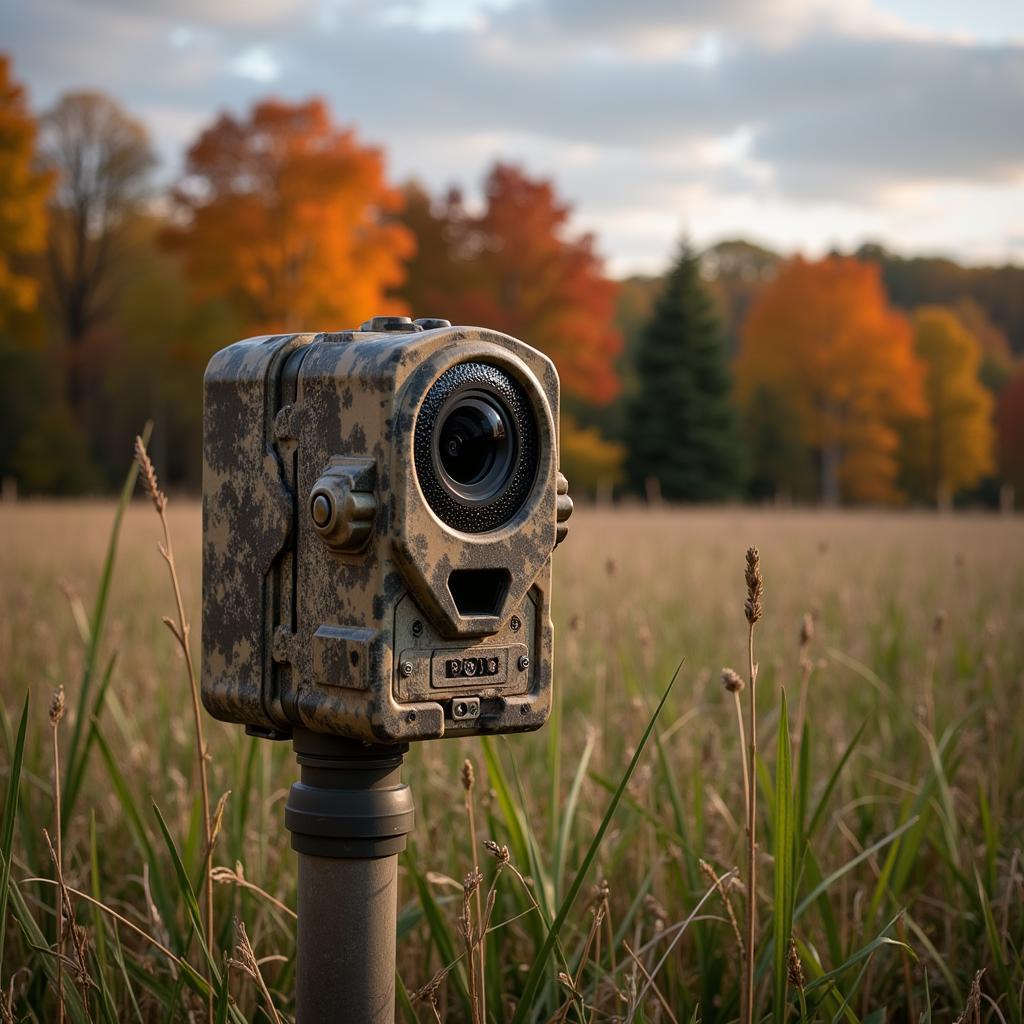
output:
[[508,482],[516,438],[509,412],[484,392],[460,395],[436,431],[444,482],[469,500],[494,497]]

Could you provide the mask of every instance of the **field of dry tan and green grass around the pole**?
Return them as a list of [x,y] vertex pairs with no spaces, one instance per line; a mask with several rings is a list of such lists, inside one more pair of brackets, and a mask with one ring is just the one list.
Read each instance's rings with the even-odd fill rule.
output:
[[[291,751],[207,720],[212,800],[230,791],[207,958],[196,926],[204,851],[190,697],[161,622],[174,601],[148,503],[124,517],[96,630],[115,510],[0,506],[3,1019],[56,1020],[59,974],[69,1020],[201,1020],[210,971],[220,1019],[285,1020]],[[198,505],[172,500],[169,518],[198,632]],[[488,1020],[512,1019],[517,1006],[522,1021],[738,1018],[745,897],[729,872],[745,877],[743,770],[734,698],[720,675],[748,675],[749,544],[760,548],[765,578],[754,638],[758,1016],[952,1020],[966,1010],[967,1021],[1020,1024],[1024,519],[744,509],[580,510],[556,554],[552,721],[528,735],[426,744],[407,759],[418,825],[401,860],[399,1016],[472,1019],[459,921],[476,912],[463,880],[478,857],[482,892],[495,893]],[[802,648],[805,614],[813,637]],[[59,685],[67,713],[51,728]],[[63,930],[59,970],[56,889],[30,881],[54,878],[43,833],[55,835],[54,736],[63,881],[102,904],[70,893],[77,927]],[[475,838],[461,783],[467,758]],[[508,863],[483,840],[507,847]],[[725,879],[721,890],[712,872]],[[563,905],[559,941],[546,944]],[[244,959],[236,919],[261,962],[263,994],[251,968],[225,965]],[[795,957],[776,954],[791,929]]]

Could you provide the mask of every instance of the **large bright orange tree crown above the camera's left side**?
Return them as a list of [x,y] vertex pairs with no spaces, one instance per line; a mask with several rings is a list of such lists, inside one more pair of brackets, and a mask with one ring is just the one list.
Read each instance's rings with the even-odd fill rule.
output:
[[188,151],[166,234],[201,297],[252,331],[340,330],[400,312],[389,296],[414,241],[378,150],[335,127],[323,100],[221,115]]

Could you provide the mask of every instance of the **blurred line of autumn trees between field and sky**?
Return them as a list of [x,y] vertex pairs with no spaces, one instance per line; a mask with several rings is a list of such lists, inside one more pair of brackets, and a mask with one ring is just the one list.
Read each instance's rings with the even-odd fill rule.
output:
[[547,352],[580,494],[1024,490],[1024,269],[729,242],[618,283],[552,182],[497,163],[479,202],[396,185],[321,99],[221,114],[170,186],[157,175],[115,100],[76,92],[34,116],[0,56],[0,477],[23,493],[110,488],[151,418],[165,478],[198,488],[216,349],[377,313]]

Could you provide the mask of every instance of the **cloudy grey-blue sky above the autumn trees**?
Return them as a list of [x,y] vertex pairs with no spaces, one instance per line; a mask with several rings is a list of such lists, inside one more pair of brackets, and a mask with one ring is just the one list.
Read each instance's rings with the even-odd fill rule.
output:
[[678,240],[1024,262],[1021,0],[3,0],[44,110],[99,89],[167,180],[217,112],[324,95],[389,177],[550,177],[615,274]]

